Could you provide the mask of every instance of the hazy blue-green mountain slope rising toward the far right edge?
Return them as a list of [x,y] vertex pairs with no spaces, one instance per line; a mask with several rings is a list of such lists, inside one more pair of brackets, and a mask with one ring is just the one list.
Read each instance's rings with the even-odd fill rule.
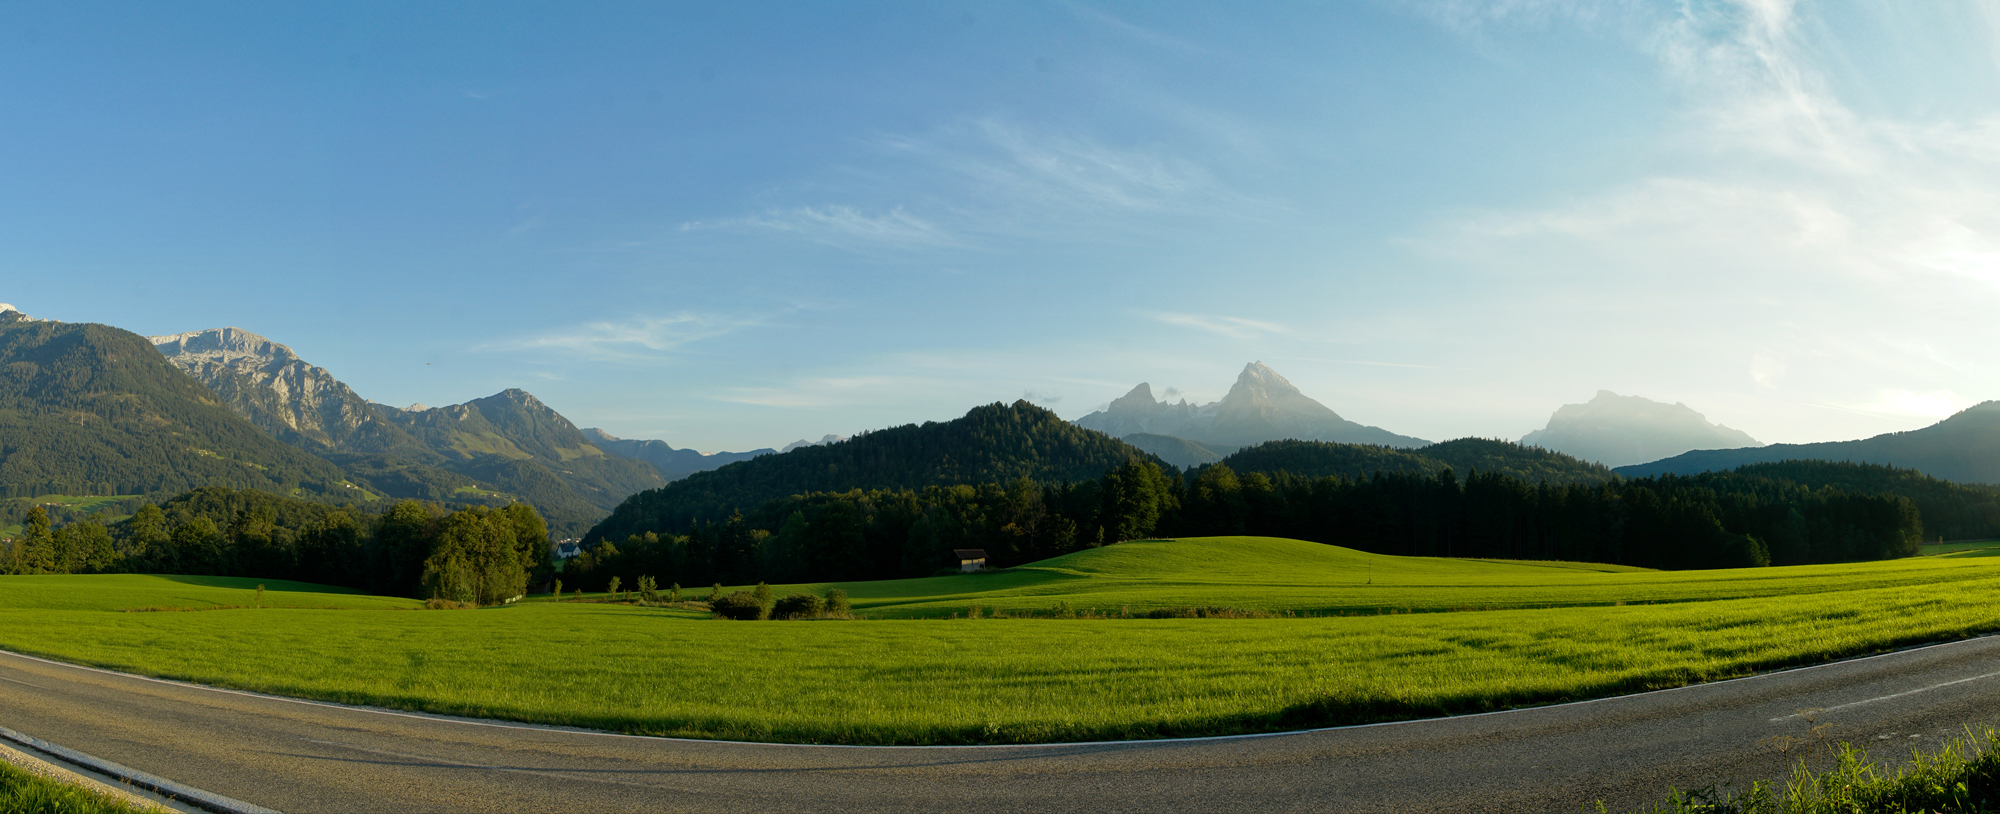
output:
[[1694,474],[1780,460],[1850,460],[1920,470],[1960,484],[2000,484],[2000,402],[1982,402],[1910,432],[1820,444],[1770,444],[1744,450],[1694,450],[1618,474]]

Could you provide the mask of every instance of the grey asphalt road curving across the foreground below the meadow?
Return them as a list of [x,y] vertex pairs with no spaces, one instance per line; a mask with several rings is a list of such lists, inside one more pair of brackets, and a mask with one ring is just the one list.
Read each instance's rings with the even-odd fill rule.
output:
[[[1798,716],[1800,710],[1820,710]],[[2000,638],[1682,690],[1278,736],[976,748],[632,738],[214,690],[0,654],[0,726],[306,812],[1578,812],[2000,722]],[[1818,746],[1790,746],[1816,740]],[[1824,762],[1824,760],[1820,760]]]

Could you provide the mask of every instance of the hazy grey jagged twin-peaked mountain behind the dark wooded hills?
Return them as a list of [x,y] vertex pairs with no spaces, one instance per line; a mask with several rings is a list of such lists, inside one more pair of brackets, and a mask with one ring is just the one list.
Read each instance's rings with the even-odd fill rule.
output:
[[1140,382],[1104,410],[1078,418],[1076,426],[1114,438],[1154,434],[1224,446],[1284,438],[1382,446],[1430,444],[1340,418],[1326,404],[1298,392],[1264,362],[1246,364],[1220,402],[1202,406],[1192,406],[1186,398],[1174,404],[1158,402],[1152,398],[1152,386]]

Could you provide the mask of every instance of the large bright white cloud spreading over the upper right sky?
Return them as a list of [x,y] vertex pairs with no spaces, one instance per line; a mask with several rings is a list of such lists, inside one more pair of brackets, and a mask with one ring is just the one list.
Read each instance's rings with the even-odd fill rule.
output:
[[[1564,14],[1554,2],[1500,6]],[[1522,20],[1454,8],[1450,26]],[[1956,392],[2000,386],[1974,350],[2000,342],[1976,318],[2000,306],[2000,112],[1972,98],[1850,104],[1844,92],[1882,88],[1842,62],[1850,54],[1816,6],[1628,12],[1644,18],[1632,44],[1684,100],[1662,134],[1674,160],[1556,206],[1454,212],[1410,238],[1494,290],[1460,324],[1560,312],[1564,328],[1550,334],[1606,338],[1624,348],[1616,366],[1912,422],[1968,404]],[[1966,36],[2000,52],[2000,28],[1988,28]],[[1660,336],[1672,342],[1636,342]],[[1832,432],[1804,424],[1748,430]]]

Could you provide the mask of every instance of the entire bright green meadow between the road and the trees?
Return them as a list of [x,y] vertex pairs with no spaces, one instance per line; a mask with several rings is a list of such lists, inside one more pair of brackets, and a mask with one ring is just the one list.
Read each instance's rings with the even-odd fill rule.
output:
[[[620,732],[926,744],[1474,712],[2000,630],[2000,568],[1962,556],[1666,574],[1210,538],[846,586],[870,616],[964,614],[972,604],[1046,614],[1056,602],[1112,616],[998,620],[716,622],[688,608],[604,602],[430,612],[268,580],[266,606],[276,608],[252,610],[254,582],[0,578],[0,648]],[[1800,602],[1802,592],[1816,596]],[[1118,618],[1118,608],[1198,604],[1352,616]],[[160,606],[240,610],[122,612]],[[1456,610],[1502,606],[1512,610]]]

